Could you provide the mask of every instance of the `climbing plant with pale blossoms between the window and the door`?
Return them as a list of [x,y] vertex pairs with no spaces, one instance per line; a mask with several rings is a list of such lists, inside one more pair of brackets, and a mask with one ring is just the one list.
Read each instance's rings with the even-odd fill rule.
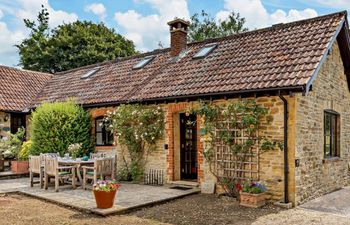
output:
[[107,112],[104,126],[118,138],[122,148],[123,168],[118,174],[122,180],[140,181],[150,152],[163,137],[164,112],[160,107],[121,105]]

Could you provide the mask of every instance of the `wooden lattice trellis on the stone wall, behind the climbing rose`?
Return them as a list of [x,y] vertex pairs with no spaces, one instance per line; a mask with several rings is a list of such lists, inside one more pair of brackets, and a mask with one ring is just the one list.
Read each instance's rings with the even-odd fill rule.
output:
[[[229,123],[226,122],[226,124],[229,126],[229,130],[236,143],[240,144],[248,140],[249,137],[246,130],[233,129]],[[217,129],[216,132],[221,131]],[[237,159],[237,156],[231,152],[229,147],[219,139],[220,135],[216,134],[216,137],[215,169],[219,177],[259,180],[259,147],[257,137],[254,138],[255,145],[252,147],[251,152],[245,154],[246,159],[244,162]]]

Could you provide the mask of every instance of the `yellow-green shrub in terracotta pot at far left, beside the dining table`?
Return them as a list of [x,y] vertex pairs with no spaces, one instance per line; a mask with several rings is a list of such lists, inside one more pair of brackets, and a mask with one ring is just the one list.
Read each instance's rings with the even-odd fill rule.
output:
[[11,161],[11,170],[14,173],[29,172],[28,152],[31,144],[30,142],[25,142],[25,144],[22,146],[24,134],[24,128],[19,128],[17,133],[11,134],[10,139],[7,142],[11,153],[16,159]]

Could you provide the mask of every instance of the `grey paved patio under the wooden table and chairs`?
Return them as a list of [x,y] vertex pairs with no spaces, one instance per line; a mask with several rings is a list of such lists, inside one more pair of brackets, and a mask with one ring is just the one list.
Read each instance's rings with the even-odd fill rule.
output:
[[0,181],[0,193],[19,192],[36,198],[55,202],[61,205],[73,207],[79,210],[89,211],[99,215],[121,214],[135,208],[150,206],[157,203],[181,198],[187,195],[199,193],[198,188],[188,190],[171,189],[170,186],[147,186],[139,184],[122,183],[115,201],[110,209],[97,209],[91,190],[76,190],[71,186],[60,186],[60,192],[55,192],[53,187],[48,190],[40,189],[38,185],[29,187],[29,179],[12,179]]

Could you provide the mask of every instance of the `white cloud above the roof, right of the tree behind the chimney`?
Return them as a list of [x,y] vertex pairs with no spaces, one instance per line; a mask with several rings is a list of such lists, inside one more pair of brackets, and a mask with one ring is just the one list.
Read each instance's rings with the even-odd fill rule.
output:
[[288,12],[278,9],[270,14],[261,0],[225,0],[224,8],[225,10],[216,14],[217,20],[226,19],[231,11],[239,12],[246,19],[246,26],[250,29],[317,16],[317,12],[314,9],[291,9]]

